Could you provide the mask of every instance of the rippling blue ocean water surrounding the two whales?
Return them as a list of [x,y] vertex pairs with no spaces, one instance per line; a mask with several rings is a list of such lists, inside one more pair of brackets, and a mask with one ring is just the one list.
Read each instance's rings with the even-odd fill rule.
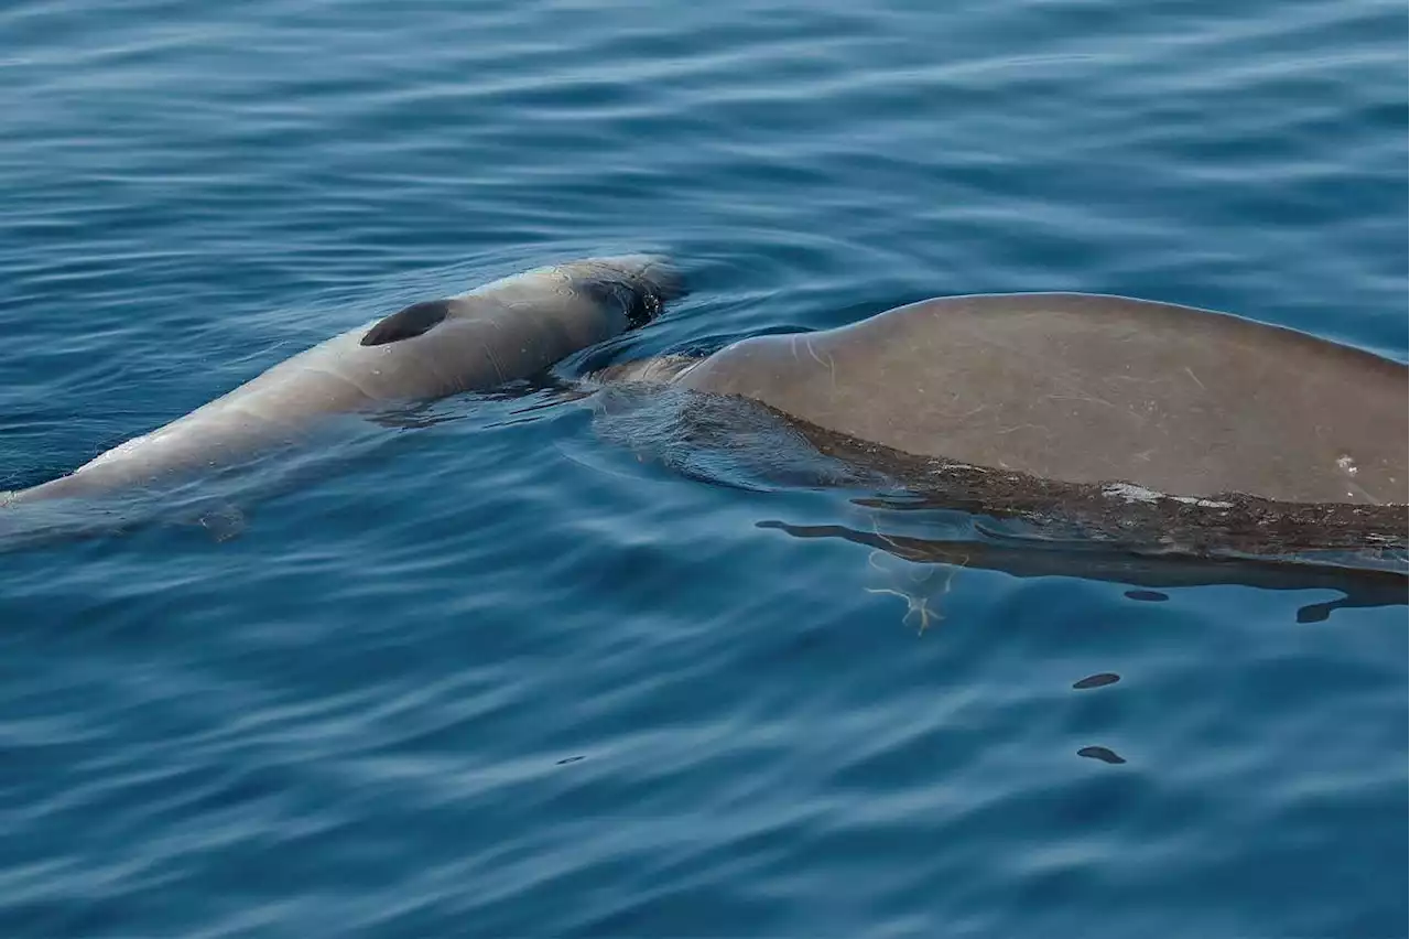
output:
[[[633,354],[1074,289],[1407,360],[1407,49],[1383,0],[11,0],[0,488],[623,250],[694,286]],[[1403,587],[918,558],[591,402],[436,415],[0,556],[0,935],[1410,932]]]

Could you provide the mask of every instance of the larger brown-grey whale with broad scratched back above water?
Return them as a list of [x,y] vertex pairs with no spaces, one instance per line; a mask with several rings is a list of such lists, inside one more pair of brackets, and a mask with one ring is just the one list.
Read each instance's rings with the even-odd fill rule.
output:
[[1172,303],[936,297],[596,378],[749,399],[852,441],[1038,481],[1410,503],[1410,367]]

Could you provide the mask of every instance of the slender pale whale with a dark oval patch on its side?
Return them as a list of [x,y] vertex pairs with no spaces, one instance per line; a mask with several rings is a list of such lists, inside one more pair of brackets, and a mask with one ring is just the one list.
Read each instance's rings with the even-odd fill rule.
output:
[[488,391],[634,330],[684,293],[664,255],[584,258],[422,300],[283,360],[75,471],[0,505],[147,486],[299,440],[314,422]]

